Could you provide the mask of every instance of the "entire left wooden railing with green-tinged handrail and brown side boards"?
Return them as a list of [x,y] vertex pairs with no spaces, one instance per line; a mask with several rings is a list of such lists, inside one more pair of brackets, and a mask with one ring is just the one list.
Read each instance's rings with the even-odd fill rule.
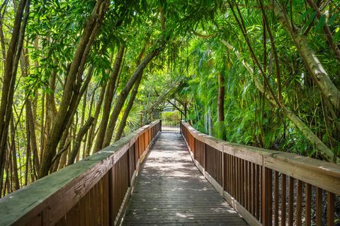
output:
[[159,120],[0,199],[0,225],[119,225]]

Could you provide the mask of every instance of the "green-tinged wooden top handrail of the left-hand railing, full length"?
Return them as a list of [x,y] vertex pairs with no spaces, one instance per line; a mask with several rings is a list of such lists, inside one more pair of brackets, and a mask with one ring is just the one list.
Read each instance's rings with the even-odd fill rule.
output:
[[53,211],[55,215],[49,216],[47,225],[57,222],[108,172],[140,134],[158,122],[142,126],[103,150],[1,198],[0,225],[26,225],[32,215],[38,215],[51,203],[57,210]]

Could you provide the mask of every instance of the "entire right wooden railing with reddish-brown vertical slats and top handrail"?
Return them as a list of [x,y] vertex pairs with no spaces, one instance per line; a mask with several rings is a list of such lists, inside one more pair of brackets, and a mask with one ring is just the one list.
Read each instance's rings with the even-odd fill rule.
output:
[[227,143],[183,121],[181,133],[198,169],[249,225],[340,224],[339,165]]

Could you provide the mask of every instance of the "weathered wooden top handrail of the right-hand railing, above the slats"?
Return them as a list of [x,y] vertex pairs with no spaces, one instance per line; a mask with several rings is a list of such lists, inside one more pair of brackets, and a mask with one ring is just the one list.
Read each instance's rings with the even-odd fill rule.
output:
[[197,131],[185,121],[182,121],[182,124],[193,137],[223,153],[282,172],[334,194],[340,194],[340,165],[278,150],[229,143]]

